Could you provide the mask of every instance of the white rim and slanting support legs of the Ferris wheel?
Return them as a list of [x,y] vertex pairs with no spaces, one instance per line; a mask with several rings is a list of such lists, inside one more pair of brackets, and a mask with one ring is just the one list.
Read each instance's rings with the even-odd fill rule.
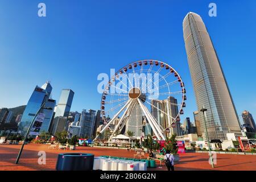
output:
[[[172,117],[170,114],[169,114],[169,110],[167,109],[167,113],[164,112],[163,110],[160,110],[158,109],[157,107],[155,107],[154,105],[152,105],[150,102],[147,102],[147,104],[150,104],[152,107],[155,107],[156,109],[160,110],[162,113],[166,114],[168,116],[168,118],[172,118],[172,121],[168,121],[168,127],[166,127],[166,129],[163,129],[162,126],[160,126],[160,124],[156,121],[156,119],[154,117],[152,117],[152,114],[150,113],[150,111],[148,111],[147,107],[143,104],[142,100],[140,98],[136,98],[136,99],[132,99],[132,98],[128,98],[127,101],[124,101],[122,102],[123,105],[122,108],[114,115],[114,117],[112,119],[110,119],[110,121],[106,120],[106,116],[105,116],[105,99],[106,99],[106,96],[108,95],[107,91],[106,90],[109,90],[109,87],[110,85],[112,85],[112,82],[115,81],[115,79],[117,78],[118,79],[118,74],[119,73],[125,73],[126,74],[126,71],[127,68],[129,69],[133,69],[133,74],[135,73],[134,71],[134,67],[137,67],[138,65],[140,66],[143,66],[144,63],[150,63],[150,69],[152,69],[152,67],[155,66],[158,66],[160,65],[160,68],[159,70],[161,71],[163,68],[168,68],[170,69],[170,73],[167,73],[167,74],[170,74],[171,73],[174,73],[176,74],[175,77],[178,78],[178,80],[175,80],[174,82],[180,82],[180,86],[182,88],[181,92],[176,92],[176,93],[182,93],[182,102],[181,104],[177,104],[180,106],[180,109],[179,109],[179,112],[178,114],[176,115],[176,117]],[[156,65],[156,63],[158,63],[158,65]],[[137,65],[138,64],[138,65]],[[141,65],[142,64],[142,65]],[[136,65],[136,66],[135,66]],[[148,69],[148,72],[147,74],[151,71],[150,69]],[[158,71],[159,71],[158,70]],[[141,72],[142,72],[142,69],[141,69]],[[122,74],[121,73],[121,74]],[[166,74],[166,75],[167,75]],[[166,76],[165,75],[165,76]],[[169,76],[169,75],[168,75]],[[126,74],[126,77],[127,77],[127,74]],[[128,77],[127,77],[128,78]],[[161,79],[165,79],[164,77],[160,78]],[[129,80],[129,78],[128,78]],[[119,80],[121,81],[121,80]],[[129,80],[130,81],[130,80]],[[122,81],[121,81],[122,82]],[[160,81],[158,81],[160,82]],[[170,83],[167,83],[166,85],[168,86],[168,84],[172,84],[173,82],[170,82]],[[129,84],[128,84],[129,85]],[[126,86],[128,88],[128,86]],[[159,86],[160,87],[163,87],[162,86]],[[171,93],[171,92],[169,92]],[[162,93],[163,94],[163,93]],[[114,95],[114,94],[113,94]],[[127,94],[117,94],[119,96],[123,95],[123,96],[127,96]],[[159,94],[160,95],[160,94]],[[105,97],[105,98],[104,98]],[[121,99],[121,100],[118,100],[118,101],[123,101],[123,100],[126,100],[126,99]],[[114,127],[114,130],[112,130],[112,134],[108,140],[108,142],[110,142],[110,140],[114,137],[114,134],[117,133],[117,131],[121,132],[121,130],[123,129],[123,127],[125,126],[128,118],[130,117],[130,114],[131,114],[131,111],[133,110],[134,108],[134,105],[135,104],[138,104],[139,107],[141,108],[141,110],[143,111],[143,114],[145,115],[145,117],[147,118],[147,121],[148,123],[150,124],[154,134],[155,134],[155,137],[158,139],[158,140],[165,140],[166,138],[164,137],[163,133],[164,131],[166,131],[167,129],[170,129],[170,127],[172,127],[172,124],[175,123],[176,121],[180,121],[180,114],[183,114],[183,107],[185,107],[185,102],[184,100],[187,100],[186,96],[185,96],[185,88],[184,88],[184,82],[181,80],[181,77],[179,75],[179,73],[176,72],[176,70],[174,68],[172,68],[170,65],[162,62],[162,61],[157,61],[157,60],[139,60],[139,61],[135,61],[133,63],[130,63],[130,64],[127,64],[125,67],[119,69],[118,72],[115,73],[115,75],[110,78],[109,80],[109,84],[105,87],[104,89],[104,92],[102,93],[102,98],[101,98],[101,115],[102,115],[102,118],[104,119],[104,123],[106,123],[106,125],[104,126],[104,128],[100,131],[100,134],[102,134],[106,129],[110,129],[109,125],[111,123],[113,123],[113,121],[118,117],[118,115],[123,111],[125,110],[125,112],[122,114],[121,118],[119,119],[117,125],[115,125]],[[103,104],[104,103],[104,104]],[[120,104],[119,104],[120,105]],[[167,104],[168,106],[168,104]],[[116,107],[116,106],[115,106]],[[130,112],[129,112],[130,111]],[[170,119],[168,119],[170,120]],[[118,130],[119,129],[119,130]],[[94,140],[96,140],[98,138],[99,135],[96,136],[96,138],[94,138]],[[93,141],[94,141],[93,140]]]

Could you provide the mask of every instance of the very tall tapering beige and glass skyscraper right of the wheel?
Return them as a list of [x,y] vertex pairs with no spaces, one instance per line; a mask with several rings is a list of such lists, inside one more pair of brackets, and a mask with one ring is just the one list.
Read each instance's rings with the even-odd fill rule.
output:
[[[185,16],[183,34],[197,107],[207,109],[205,120],[209,138],[227,139],[227,133],[241,136],[240,122],[220,61],[199,15],[188,13]],[[203,121],[202,112],[200,121]]]

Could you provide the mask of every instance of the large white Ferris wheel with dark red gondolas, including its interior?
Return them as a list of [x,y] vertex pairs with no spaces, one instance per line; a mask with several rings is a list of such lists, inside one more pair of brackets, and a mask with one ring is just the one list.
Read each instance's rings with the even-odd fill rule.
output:
[[[148,123],[154,136],[164,140],[164,133],[180,121],[187,100],[185,93],[184,82],[170,65],[157,60],[130,63],[119,69],[105,86],[101,98],[105,126],[100,133],[110,129],[110,141],[130,125],[129,118],[137,117],[137,126]],[[162,102],[166,104],[161,107]],[[166,118],[165,123],[161,123],[159,117]]]

